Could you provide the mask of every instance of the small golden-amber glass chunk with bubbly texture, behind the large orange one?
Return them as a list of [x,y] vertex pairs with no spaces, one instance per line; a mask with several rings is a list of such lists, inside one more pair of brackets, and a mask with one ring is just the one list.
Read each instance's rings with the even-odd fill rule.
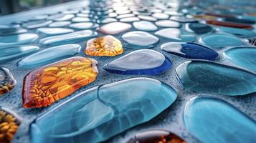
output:
[[90,56],[116,56],[122,53],[122,43],[111,35],[90,39],[85,49],[85,54]]

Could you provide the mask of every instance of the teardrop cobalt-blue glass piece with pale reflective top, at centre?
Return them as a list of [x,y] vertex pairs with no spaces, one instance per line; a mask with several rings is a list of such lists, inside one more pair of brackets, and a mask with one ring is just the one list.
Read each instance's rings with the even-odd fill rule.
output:
[[171,67],[171,61],[158,51],[141,49],[110,61],[103,69],[115,74],[161,74]]

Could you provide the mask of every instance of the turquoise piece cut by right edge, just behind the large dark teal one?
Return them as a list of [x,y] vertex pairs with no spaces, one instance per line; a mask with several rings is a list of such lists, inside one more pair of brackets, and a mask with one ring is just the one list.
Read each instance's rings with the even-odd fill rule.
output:
[[255,46],[237,46],[223,52],[224,57],[234,64],[246,69],[256,71],[256,48]]

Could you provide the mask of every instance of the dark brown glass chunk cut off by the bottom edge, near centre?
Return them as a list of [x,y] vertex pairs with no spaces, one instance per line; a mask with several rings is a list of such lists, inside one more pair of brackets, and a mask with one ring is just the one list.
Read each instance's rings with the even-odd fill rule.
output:
[[186,143],[184,139],[166,130],[139,132],[127,143]]

